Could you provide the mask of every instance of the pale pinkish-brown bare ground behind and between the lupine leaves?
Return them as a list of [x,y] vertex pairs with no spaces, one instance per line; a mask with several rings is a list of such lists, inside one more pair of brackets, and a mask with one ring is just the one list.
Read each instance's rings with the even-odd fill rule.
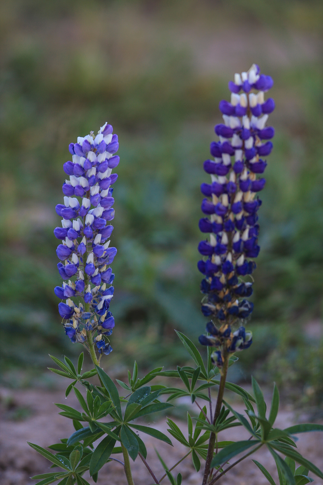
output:
[[[9,396],[10,394],[10,396]],[[4,410],[0,419],[0,484],[1,485],[29,485],[36,483],[29,479],[36,473],[48,472],[48,462],[41,455],[38,455],[31,449],[27,440],[46,447],[46,445],[58,442],[60,438],[68,437],[74,431],[71,420],[58,415],[59,409],[53,404],[55,402],[64,402],[79,408],[75,396],[71,393],[68,399],[64,399],[63,391],[45,391],[40,394],[37,389],[8,391],[0,389],[2,404],[8,401],[8,397],[13,400],[16,407]],[[265,396],[266,397],[266,396]],[[266,401],[268,401],[266,399]],[[267,402],[267,404],[270,404]],[[3,410],[2,405],[2,410]],[[29,417],[23,420],[14,420],[13,414],[17,410],[28,408],[31,411]],[[243,406],[235,404],[235,408],[243,412]],[[277,418],[277,427],[285,428],[295,422],[295,413],[288,408],[282,407]],[[304,416],[301,417],[304,420]],[[184,421],[176,420],[184,434],[187,434],[187,428]],[[147,422],[145,423],[147,425]],[[153,423],[151,423],[153,424]],[[154,423],[154,426],[168,434],[165,418]],[[186,428],[186,429],[185,429]],[[323,469],[323,435],[321,433],[306,433],[299,435],[298,450],[310,459],[318,468]],[[185,454],[185,447],[170,436],[172,442],[176,443],[171,447],[166,443],[157,441],[154,438],[144,435],[143,437],[148,455],[147,462],[153,469],[157,478],[163,475],[163,469],[156,457],[154,447],[156,447],[170,467]],[[243,428],[231,428],[225,432],[225,439],[237,440],[246,439],[247,433]],[[222,437],[224,439],[224,436]],[[122,455],[114,455],[122,460]],[[268,470],[276,475],[273,459],[265,448],[253,455]],[[203,463],[201,470],[203,468]],[[132,463],[134,482],[136,485],[151,485],[152,479],[139,458]],[[190,457],[187,457],[178,467],[183,475],[183,485],[200,485],[202,471],[196,473],[193,469]],[[311,475],[313,476],[313,475]],[[85,475],[89,483],[93,484],[89,475]],[[314,478],[314,476],[313,476]],[[123,476],[123,467],[119,463],[110,462],[106,464],[99,473],[99,485],[123,485],[126,481]],[[169,483],[165,479],[163,484]],[[251,459],[240,467],[232,469],[227,476],[219,480],[222,485],[262,485],[268,483],[258,468],[252,463]],[[276,480],[276,483],[277,480]],[[315,477],[315,484],[323,485],[323,481]]]

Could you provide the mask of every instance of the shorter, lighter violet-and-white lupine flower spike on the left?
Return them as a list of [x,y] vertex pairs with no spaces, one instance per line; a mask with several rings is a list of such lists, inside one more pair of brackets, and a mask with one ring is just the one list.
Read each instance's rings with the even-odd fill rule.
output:
[[63,261],[57,267],[64,280],[54,291],[66,299],[59,303],[59,313],[66,335],[87,347],[94,362],[94,343],[101,355],[112,351],[106,338],[114,327],[108,311],[114,291],[109,265],[117,250],[109,247],[113,226],[108,221],[114,218],[111,186],[118,178],[111,172],[120,159],[115,155],[118,136],[112,131],[106,123],[96,136],[91,132],[69,145],[72,161],[63,165],[69,176],[62,187],[64,204],[56,206],[62,227],[54,229],[56,238],[62,240],[56,254]]

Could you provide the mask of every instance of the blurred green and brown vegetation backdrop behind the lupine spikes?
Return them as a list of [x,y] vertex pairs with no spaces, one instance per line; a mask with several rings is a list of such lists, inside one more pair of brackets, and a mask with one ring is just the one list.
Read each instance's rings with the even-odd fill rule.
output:
[[81,350],[64,335],[53,291],[55,205],[68,144],[105,121],[121,162],[116,328],[104,366],[122,374],[135,358],[146,369],[185,362],[173,329],[197,342],[206,322],[202,162],[228,81],[256,62],[275,80],[276,136],[261,193],[254,343],[231,379],[253,373],[300,403],[322,402],[322,1],[2,0],[0,22],[2,383],[38,382],[48,352]]

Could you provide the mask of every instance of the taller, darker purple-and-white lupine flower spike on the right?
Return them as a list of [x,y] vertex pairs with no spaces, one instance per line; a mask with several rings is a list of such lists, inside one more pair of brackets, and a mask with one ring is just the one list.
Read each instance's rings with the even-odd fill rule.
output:
[[[246,319],[253,304],[245,298],[252,294],[252,282],[244,276],[256,268],[259,225],[257,211],[261,206],[258,197],[265,179],[258,178],[266,168],[262,159],[269,155],[275,130],[267,127],[268,114],[275,109],[272,98],[265,93],[273,86],[270,76],[260,74],[258,65],[248,72],[234,75],[229,82],[231,102],[222,100],[219,109],[223,124],[215,126],[218,142],[212,142],[214,160],[203,164],[211,176],[211,184],[202,183],[206,197],[201,210],[209,216],[200,219],[201,232],[210,233],[209,240],[201,241],[199,252],[204,257],[198,268],[204,275],[200,290],[205,293],[201,302],[203,315],[214,319],[206,326],[210,336],[201,335],[202,345],[212,345],[215,363],[221,367],[223,353],[233,353],[251,345],[252,335],[240,326],[232,326]],[[219,327],[219,328],[217,328]]]

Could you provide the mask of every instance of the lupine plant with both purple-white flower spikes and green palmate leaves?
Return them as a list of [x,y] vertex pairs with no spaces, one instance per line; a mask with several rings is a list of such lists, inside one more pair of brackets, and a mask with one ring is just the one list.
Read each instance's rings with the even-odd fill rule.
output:
[[[295,444],[295,435],[323,431],[323,426],[296,424],[278,429],[275,427],[279,406],[276,385],[267,413],[261,389],[254,378],[253,395],[227,381],[228,368],[238,360],[235,354],[252,343],[252,334],[244,325],[253,304],[246,298],[252,294],[251,274],[256,268],[254,259],[260,251],[257,211],[261,200],[258,193],[265,185],[261,174],[267,164],[261,157],[269,155],[273,148],[268,140],[273,138],[274,129],[266,123],[275,103],[270,97],[265,99],[272,85],[272,79],[260,74],[257,65],[252,65],[248,72],[235,74],[234,82],[229,82],[231,102],[222,100],[219,104],[223,124],[215,126],[219,140],[211,143],[214,160],[206,160],[203,165],[211,176],[211,183],[201,185],[205,195],[201,210],[206,217],[199,222],[201,232],[209,236],[198,247],[202,255],[198,269],[204,276],[200,284],[204,294],[201,311],[210,319],[206,324],[206,335],[199,337],[199,343],[207,346],[207,360],[204,363],[196,345],[183,333],[176,332],[194,365],[171,371],[159,367],[139,378],[135,362],[132,374],[128,371],[127,383],[116,379],[124,395],[120,395],[113,380],[100,367],[102,356],[108,356],[112,351],[108,337],[114,327],[114,318],[109,311],[114,280],[110,264],[117,250],[110,247],[107,240],[113,230],[109,221],[114,217],[112,185],[118,176],[112,174],[112,170],[119,163],[119,157],[115,155],[119,147],[118,137],[106,123],[96,136],[91,132],[69,145],[72,161],[63,165],[69,176],[62,186],[64,204],[56,206],[56,212],[62,217],[62,227],[54,230],[55,236],[62,241],[56,253],[63,283],[54,291],[58,298],[65,300],[58,307],[66,335],[86,349],[94,368],[81,373],[83,352],[78,358],[77,369],[68,357],[65,356],[62,362],[51,356],[59,369],[50,370],[71,379],[65,395],[67,397],[73,389],[82,411],[56,404],[62,410],[60,414],[73,421],[75,432],[61,439],[60,443],[50,445],[48,448],[54,453],[29,443],[52,463],[54,469],[33,477],[40,480],[39,485],[53,482],[88,484],[83,477],[88,470],[96,482],[98,472],[112,460],[123,466],[127,483],[133,485],[130,458],[135,461],[138,457],[155,484],[167,478],[172,485],[181,485],[181,473],[175,478],[171,472],[188,456],[191,456],[197,472],[201,460],[205,463],[202,485],[213,485],[262,446],[267,447],[273,456],[280,485],[310,483],[313,479],[308,477],[309,471],[323,479],[323,473],[296,451]],[[87,380],[94,376],[99,385]],[[162,376],[178,379],[179,387],[151,385],[154,378]],[[211,388],[217,390],[214,412]],[[223,399],[225,389],[240,396],[246,407],[245,415],[236,412]],[[170,418],[167,418],[167,424],[170,436],[184,445],[187,453],[169,467],[156,452],[165,469],[163,476],[157,479],[146,461],[147,450],[141,437],[145,434],[154,436],[169,446],[172,442],[169,436],[143,425],[140,420],[169,409],[184,396],[193,407],[190,413],[187,412],[187,435]],[[202,401],[206,405],[202,406]],[[193,416],[195,406],[199,414]],[[243,426],[249,439],[220,441],[218,434],[233,426]],[[94,448],[94,442],[99,439],[101,441]],[[116,458],[116,455],[123,455],[123,461],[119,459],[122,456]],[[234,458],[236,455],[239,455],[238,459]],[[253,462],[268,482],[275,485],[275,480],[261,463]],[[298,468],[295,463],[299,464]]]

